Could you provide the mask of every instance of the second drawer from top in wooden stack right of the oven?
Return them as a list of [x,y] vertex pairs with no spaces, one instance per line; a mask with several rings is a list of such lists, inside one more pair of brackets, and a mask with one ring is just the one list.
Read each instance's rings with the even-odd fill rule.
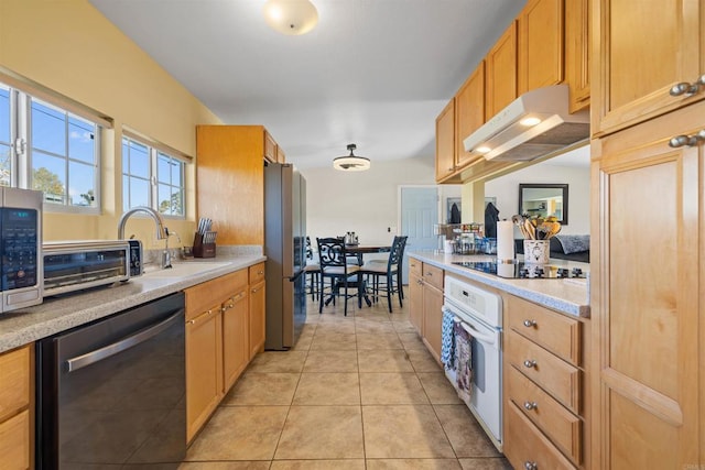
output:
[[516,331],[510,330],[507,339],[509,363],[573,413],[579,414],[581,371]]

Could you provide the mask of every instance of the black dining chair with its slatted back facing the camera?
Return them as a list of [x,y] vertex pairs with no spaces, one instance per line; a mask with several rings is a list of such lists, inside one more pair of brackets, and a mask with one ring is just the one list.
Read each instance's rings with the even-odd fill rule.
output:
[[[321,265],[321,280],[318,282],[318,313],[323,313],[323,305],[333,302],[344,291],[344,314],[348,315],[348,298],[356,294],[349,294],[348,287],[354,285],[357,289],[358,307],[362,306],[362,276],[359,275],[360,266],[346,262],[345,240],[340,238],[317,238],[318,264]],[[326,280],[328,280],[328,294],[326,297]]]

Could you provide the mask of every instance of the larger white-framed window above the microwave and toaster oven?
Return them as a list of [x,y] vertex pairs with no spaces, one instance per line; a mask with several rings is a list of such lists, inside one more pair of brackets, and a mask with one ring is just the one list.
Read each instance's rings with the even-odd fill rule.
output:
[[47,208],[97,212],[101,130],[0,84],[0,185],[42,190]]

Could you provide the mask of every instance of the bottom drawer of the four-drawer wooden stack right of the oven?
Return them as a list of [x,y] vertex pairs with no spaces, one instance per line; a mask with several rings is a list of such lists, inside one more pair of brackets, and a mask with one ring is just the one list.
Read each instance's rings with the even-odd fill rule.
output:
[[513,403],[505,411],[503,451],[513,468],[575,469]]

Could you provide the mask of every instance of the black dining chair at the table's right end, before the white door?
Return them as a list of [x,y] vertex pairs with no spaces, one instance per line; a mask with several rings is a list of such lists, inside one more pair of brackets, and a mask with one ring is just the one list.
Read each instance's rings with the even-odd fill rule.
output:
[[399,296],[399,306],[403,307],[404,289],[401,278],[401,263],[406,247],[406,236],[397,236],[392,241],[387,263],[382,260],[372,260],[362,265],[361,274],[371,277],[370,287],[375,302],[379,299],[379,292],[387,293],[389,313],[392,313],[392,295]]

